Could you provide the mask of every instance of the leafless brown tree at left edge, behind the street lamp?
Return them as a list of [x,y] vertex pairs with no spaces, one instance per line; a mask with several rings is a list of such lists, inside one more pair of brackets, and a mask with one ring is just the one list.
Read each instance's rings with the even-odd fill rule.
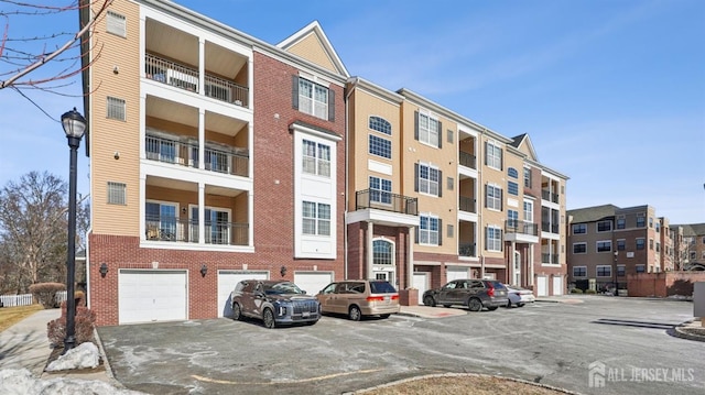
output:
[[66,270],[67,186],[31,172],[0,190],[3,290],[26,293],[37,282],[63,282]]

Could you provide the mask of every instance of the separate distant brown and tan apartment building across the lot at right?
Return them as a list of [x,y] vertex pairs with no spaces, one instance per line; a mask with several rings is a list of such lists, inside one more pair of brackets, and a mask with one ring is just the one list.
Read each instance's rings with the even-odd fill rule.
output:
[[651,206],[568,210],[571,283],[598,292],[627,289],[627,275],[674,270],[669,220]]

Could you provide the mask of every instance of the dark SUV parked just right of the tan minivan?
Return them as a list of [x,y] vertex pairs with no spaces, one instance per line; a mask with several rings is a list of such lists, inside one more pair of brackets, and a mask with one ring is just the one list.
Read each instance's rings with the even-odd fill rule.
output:
[[423,293],[423,304],[431,307],[463,305],[470,311],[479,311],[482,307],[496,310],[507,306],[509,298],[505,284],[496,279],[454,279],[441,288]]

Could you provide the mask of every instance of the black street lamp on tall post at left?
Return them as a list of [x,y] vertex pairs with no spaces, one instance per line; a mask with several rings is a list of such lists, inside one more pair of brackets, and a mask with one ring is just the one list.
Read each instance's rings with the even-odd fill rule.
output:
[[66,261],[66,337],[64,353],[76,345],[76,297],[74,277],[76,275],[76,163],[78,145],[86,131],[86,119],[76,108],[62,116],[62,125],[70,147],[70,165],[68,174],[68,257]]

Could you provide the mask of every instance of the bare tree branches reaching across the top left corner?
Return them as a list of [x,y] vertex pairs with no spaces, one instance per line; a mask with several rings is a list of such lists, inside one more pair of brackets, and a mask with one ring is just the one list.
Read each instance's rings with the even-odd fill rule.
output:
[[[74,0],[66,6],[50,6],[50,1],[44,2],[0,0],[0,21],[4,20],[0,43],[0,89],[12,87],[22,94],[20,89],[34,88],[57,94],[62,87],[70,85],[72,77],[90,66],[89,39],[112,0]],[[78,29],[52,31],[55,25],[52,19],[57,14],[75,11],[80,14],[91,10],[91,18],[76,18],[76,21],[89,21],[86,24],[77,23]],[[30,20],[32,35],[12,35],[12,22],[15,20]],[[50,62],[58,67],[39,75],[37,78],[31,78]]]

